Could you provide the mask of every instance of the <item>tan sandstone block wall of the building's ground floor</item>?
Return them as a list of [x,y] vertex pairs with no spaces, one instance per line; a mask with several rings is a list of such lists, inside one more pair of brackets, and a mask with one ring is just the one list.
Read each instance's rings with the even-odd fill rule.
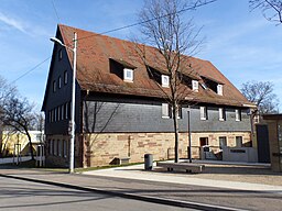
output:
[[[227,137],[228,146],[236,146],[236,136],[250,142],[249,132],[192,133],[192,156],[199,158],[199,137],[208,137],[214,152],[219,151],[219,137]],[[84,167],[109,165],[115,158],[130,158],[130,163],[144,160],[144,154],[153,154],[154,160],[174,158],[173,133],[90,133],[85,134]],[[187,158],[188,134],[180,133],[180,158]]]

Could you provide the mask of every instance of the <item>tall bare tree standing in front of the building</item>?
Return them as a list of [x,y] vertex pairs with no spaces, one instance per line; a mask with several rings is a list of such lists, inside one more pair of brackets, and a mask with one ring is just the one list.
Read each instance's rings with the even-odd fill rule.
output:
[[[186,55],[195,54],[202,44],[199,38],[200,29],[196,29],[193,19],[183,21],[183,12],[194,10],[212,1],[182,1],[182,0],[147,0],[139,18],[142,23],[141,33],[145,36],[147,44],[156,46],[158,55],[154,60],[159,68],[163,68],[170,78],[170,92],[159,86],[172,108],[172,118],[175,134],[175,163],[178,162],[178,109],[184,97],[191,93],[187,86],[183,86],[184,77],[193,71],[187,63]],[[149,73],[152,74],[152,66],[147,57],[145,47],[137,45]],[[158,65],[156,65],[158,66]],[[186,73],[184,73],[186,71]]]

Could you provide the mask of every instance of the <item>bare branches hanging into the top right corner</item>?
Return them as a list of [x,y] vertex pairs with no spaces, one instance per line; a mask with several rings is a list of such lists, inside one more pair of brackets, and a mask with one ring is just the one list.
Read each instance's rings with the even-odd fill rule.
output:
[[249,0],[249,5],[251,10],[260,9],[268,21],[282,23],[281,0]]

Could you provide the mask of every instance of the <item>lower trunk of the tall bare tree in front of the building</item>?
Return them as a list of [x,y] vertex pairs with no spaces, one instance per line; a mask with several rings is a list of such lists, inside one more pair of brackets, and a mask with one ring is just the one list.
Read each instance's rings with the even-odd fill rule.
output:
[[180,129],[178,129],[178,106],[176,102],[173,103],[173,123],[174,123],[174,163],[180,162],[178,156],[178,142],[180,142]]

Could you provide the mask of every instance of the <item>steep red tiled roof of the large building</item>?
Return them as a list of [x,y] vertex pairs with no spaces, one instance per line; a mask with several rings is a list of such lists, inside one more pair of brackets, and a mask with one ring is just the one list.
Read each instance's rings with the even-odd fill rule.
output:
[[[149,65],[164,70],[160,65],[155,65],[160,64],[160,62],[156,62],[156,48],[62,24],[58,25],[58,30],[65,44],[72,44],[74,32],[77,33],[77,81],[82,90],[142,97],[165,97],[164,91],[149,76],[145,65],[135,51],[137,45],[145,49]],[[68,57],[72,63],[72,52],[68,52]],[[133,82],[126,82],[118,75],[110,71],[110,58],[121,65],[135,67]],[[158,59],[160,60],[160,57]],[[224,85],[224,96],[219,96],[209,89],[205,90],[199,86],[198,92],[189,92],[189,97],[195,101],[237,107],[246,103],[251,104],[210,62],[188,56],[184,56],[184,59],[196,71],[192,74],[192,78],[200,79],[199,76],[204,76]],[[164,90],[167,92],[170,89],[164,88]]]

